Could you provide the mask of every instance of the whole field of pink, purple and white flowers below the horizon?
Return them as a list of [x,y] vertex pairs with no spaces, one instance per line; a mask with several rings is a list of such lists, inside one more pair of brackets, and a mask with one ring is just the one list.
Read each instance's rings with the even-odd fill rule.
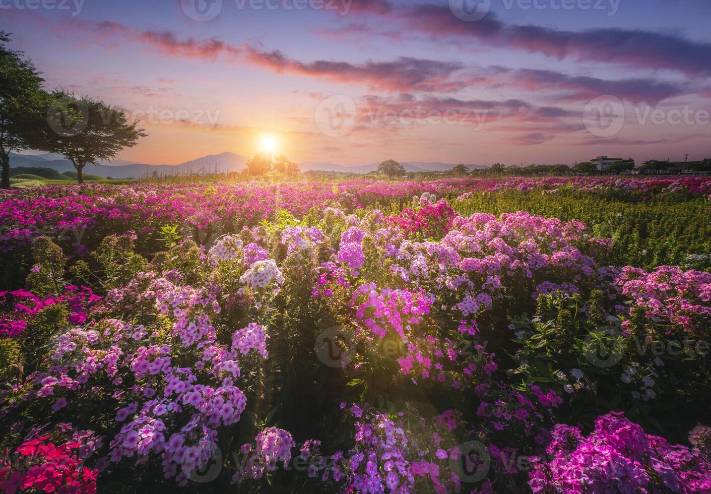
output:
[[4,492],[711,492],[711,178],[0,194]]

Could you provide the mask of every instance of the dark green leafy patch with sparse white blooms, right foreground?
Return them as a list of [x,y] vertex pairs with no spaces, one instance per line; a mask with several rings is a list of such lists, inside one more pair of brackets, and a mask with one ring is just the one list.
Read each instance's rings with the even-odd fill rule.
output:
[[[604,299],[599,292],[540,296],[533,318],[513,321],[521,349],[512,375],[555,387],[569,398],[570,417],[585,424],[624,409],[648,429],[684,434],[694,424],[680,424],[669,413],[697,417],[697,399],[711,377],[708,343],[669,335],[668,328],[650,331],[643,313],[622,331],[621,319],[604,318]],[[577,371],[582,377],[574,377]],[[653,379],[651,395],[644,392],[645,376]]]

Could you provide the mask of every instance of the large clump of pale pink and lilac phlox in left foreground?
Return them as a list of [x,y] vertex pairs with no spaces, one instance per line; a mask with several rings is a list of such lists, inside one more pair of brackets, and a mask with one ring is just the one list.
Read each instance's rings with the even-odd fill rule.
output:
[[234,385],[239,358],[252,349],[266,356],[266,335],[250,324],[232,334],[231,347],[221,345],[212,321],[220,311],[215,295],[166,276],[141,273],[109,292],[107,311],[132,308],[141,323],[113,318],[59,335],[54,365],[28,377],[33,386],[24,398],[54,399],[58,410],[77,399],[105,407],[102,383],[111,383],[117,412],[108,429],[120,427],[109,442],[111,461],[159,459],[166,478],[184,484],[210,461],[220,428],[240,419],[247,399]]

